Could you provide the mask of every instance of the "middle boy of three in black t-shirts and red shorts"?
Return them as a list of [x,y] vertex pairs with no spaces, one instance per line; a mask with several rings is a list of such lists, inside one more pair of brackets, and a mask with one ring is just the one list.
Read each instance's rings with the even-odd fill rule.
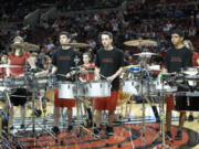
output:
[[[117,93],[119,89],[119,75],[124,72],[124,54],[113,45],[113,34],[104,31],[101,34],[103,49],[96,53],[95,76],[96,79],[106,77],[112,83],[111,97],[97,97],[94,99],[94,108],[96,109],[94,134],[98,134],[102,121],[102,111],[108,110],[108,124],[106,134],[113,135],[114,111],[117,105]],[[102,77],[103,76],[103,77]]]

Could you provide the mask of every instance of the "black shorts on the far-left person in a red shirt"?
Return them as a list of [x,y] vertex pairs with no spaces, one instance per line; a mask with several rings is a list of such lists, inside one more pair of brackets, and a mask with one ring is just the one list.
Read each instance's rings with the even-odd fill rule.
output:
[[24,106],[28,96],[30,96],[30,93],[25,88],[18,88],[10,95],[10,100],[13,106]]

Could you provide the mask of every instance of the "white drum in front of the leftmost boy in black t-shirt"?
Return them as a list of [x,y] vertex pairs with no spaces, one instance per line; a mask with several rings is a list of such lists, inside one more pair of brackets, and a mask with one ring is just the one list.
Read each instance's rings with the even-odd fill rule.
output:
[[59,98],[72,99],[75,96],[84,96],[84,88],[82,83],[62,82],[59,83]]

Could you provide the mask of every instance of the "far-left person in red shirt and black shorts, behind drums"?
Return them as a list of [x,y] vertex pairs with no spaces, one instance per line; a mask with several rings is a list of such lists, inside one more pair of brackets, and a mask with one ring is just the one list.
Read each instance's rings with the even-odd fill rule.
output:
[[[15,36],[13,39],[13,44],[22,44],[23,39],[21,36]],[[23,47],[19,45],[19,47],[14,47],[11,53],[9,53],[9,65],[20,65],[21,67],[11,67],[8,68],[9,73],[8,76],[23,76],[24,75],[24,66],[27,62],[29,63],[30,53],[24,52]],[[25,88],[17,88],[17,92],[14,93],[17,96],[11,96],[11,109],[10,109],[10,121],[12,124],[13,119],[13,106],[20,106],[21,109],[21,128],[24,128],[24,120],[25,120],[25,103],[27,103],[27,95],[28,92]],[[23,97],[18,97],[23,96]],[[13,127],[13,126],[12,126]],[[12,128],[11,127],[11,128]]]

